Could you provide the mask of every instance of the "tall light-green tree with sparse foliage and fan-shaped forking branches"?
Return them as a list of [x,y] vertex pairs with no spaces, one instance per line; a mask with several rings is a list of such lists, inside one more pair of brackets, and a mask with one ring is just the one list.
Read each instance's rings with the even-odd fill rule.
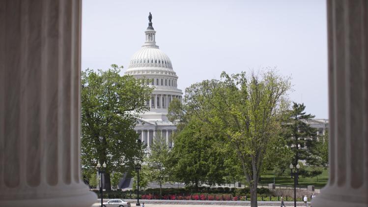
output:
[[266,152],[273,148],[288,105],[284,99],[288,89],[289,79],[273,70],[249,77],[244,72],[231,76],[223,72],[220,81],[206,80],[186,89],[186,113],[212,126],[225,138],[224,147],[236,152],[250,185],[252,207],[257,206]]

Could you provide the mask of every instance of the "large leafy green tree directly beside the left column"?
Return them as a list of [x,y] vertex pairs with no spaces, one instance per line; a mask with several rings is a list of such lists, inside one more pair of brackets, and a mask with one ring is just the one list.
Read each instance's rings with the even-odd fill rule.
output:
[[107,71],[82,72],[82,168],[95,171],[106,162],[105,188],[111,189],[110,173],[125,172],[133,157],[143,157],[133,127],[136,117],[148,108],[152,88],[144,80],[120,76],[117,65]]

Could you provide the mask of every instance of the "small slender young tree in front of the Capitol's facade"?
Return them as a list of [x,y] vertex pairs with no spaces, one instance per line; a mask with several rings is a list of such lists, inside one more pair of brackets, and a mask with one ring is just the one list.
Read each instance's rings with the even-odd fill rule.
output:
[[169,181],[170,149],[160,131],[154,137],[150,150],[146,159],[147,170],[149,172],[148,179],[159,183],[161,198],[162,184]]

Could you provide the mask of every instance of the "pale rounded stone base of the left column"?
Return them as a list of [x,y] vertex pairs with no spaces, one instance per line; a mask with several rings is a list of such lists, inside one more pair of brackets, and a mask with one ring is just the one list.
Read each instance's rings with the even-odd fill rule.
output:
[[96,203],[97,195],[91,191],[76,196],[66,196],[55,198],[37,198],[37,199],[17,199],[1,200],[1,207],[91,207]]

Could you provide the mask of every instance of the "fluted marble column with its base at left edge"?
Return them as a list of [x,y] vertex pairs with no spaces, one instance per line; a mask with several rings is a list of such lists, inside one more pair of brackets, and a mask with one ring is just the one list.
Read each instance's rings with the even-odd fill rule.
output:
[[0,0],[0,206],[90,207],[81,178],[81,0]]

